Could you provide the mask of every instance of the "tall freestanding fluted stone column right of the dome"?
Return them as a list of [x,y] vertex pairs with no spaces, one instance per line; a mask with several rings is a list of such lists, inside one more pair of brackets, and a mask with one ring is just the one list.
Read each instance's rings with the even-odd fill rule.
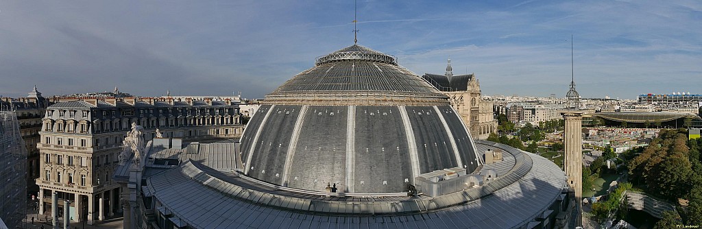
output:
[[576,225],[583,225],[583,112],[562,112],[565,119],[563,142],[563,169],[568,178],[568,185],[575,191]]

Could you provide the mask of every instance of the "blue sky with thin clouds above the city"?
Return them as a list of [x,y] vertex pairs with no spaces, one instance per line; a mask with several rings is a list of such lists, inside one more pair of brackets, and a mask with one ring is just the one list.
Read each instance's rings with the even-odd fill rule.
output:
[[[263,98],[353,44],[353,1],[2,1],[0,95]],[[359,44],[485,95],[702,93],[702,2],[359,1]]]

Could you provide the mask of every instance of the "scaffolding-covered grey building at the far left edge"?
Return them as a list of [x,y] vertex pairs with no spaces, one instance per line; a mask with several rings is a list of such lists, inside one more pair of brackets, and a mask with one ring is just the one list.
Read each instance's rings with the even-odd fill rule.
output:
[[0,218],[20,225],[27,209],[27,149],[14,112],[0,111]]

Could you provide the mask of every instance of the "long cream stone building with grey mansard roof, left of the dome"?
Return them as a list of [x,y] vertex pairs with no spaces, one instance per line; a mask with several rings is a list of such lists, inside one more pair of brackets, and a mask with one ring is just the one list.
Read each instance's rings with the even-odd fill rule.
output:
[[143,126],[145,138],[188,141],[238,138],[244,129],[232,100],[212,98],[62,98],[49,106],[42,120],[39,211],[51,211],[58,195],[63,212],[69,200],[74,222],[96,221],[121,211],[120,187],[112,181],[117,156],[132,124]]

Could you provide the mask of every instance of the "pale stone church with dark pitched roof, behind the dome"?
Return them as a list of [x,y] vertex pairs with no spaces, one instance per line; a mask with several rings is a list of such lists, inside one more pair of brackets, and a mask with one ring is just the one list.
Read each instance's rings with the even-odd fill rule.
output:
[[449,96],[451,107],[463,119],[470,134],[477,139],[487,139],[490,133],[497,133],[497,120],[494,117],[493,103],[483,100],[480,82],[475,74],[453,75],[451,60],[446,66],[446,73],[424,74],[423,79],[441,93]]

